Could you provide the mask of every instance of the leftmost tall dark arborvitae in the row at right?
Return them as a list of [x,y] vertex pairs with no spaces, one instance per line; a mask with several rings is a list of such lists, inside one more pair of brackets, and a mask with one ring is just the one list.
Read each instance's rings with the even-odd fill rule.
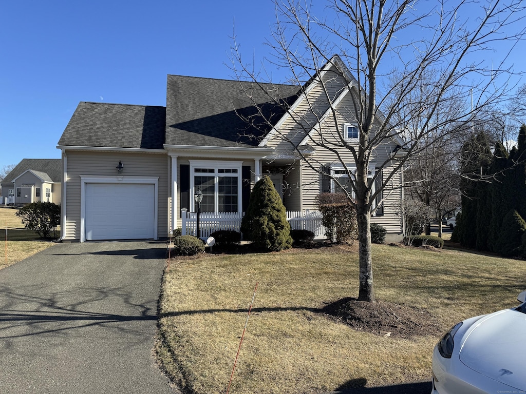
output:
[[[477,246],[478,195],[477,182],[486,171],[491,159],[489,140],[480,132],[464,143],[461,155],[461,172],[463,178],[460,185],[462,193],[462,216],[458,231],[459,242],[467,247]],[[457,222],[457,225],[459,223]]]

